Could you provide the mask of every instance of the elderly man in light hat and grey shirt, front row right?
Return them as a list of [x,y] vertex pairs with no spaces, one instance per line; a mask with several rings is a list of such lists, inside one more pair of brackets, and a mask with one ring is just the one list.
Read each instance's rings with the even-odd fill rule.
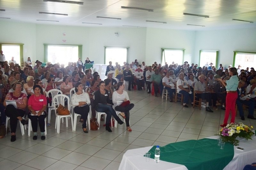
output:
[[[205,76],[204,74],[201,74],[198,77],[199,81],[196,82],[194,91],[196,93],[196,97],[202,98],[203,100],[206,100],[206,111],[213,112],[209,106],[212,106],[212,100],[216,107],[216,93],[212,95],[212,93],[209,92],[208,87],[204,81]],[[214,97],[215,96],[215,97]]]

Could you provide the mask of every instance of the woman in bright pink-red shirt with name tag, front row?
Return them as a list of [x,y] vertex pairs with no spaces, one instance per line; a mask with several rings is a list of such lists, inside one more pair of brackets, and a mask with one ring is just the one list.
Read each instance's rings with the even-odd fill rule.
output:
[[34,95],[30,96],[28,99],[28,118],[31,120],[32,130],[34,132],[33,140],[37,139],[37,122],[41,131],[41,139],[44,140],[44,119],[46,117],[46,113],[44,112],[44,110],[46,109],[47,100],[40,85],[36,84],[33,87],[33,90]]

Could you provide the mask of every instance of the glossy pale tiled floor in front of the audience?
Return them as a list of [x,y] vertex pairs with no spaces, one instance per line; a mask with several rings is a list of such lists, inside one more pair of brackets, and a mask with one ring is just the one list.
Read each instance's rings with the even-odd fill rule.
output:
[[[47,127],[44,141],[40,137],[34,141],[27,130],[21,136],[19,126],[15,142],[10,141],[10,133],[0,139],[0,169],[116,170],[129,149],[213,136],[225,114],[220,108],[213,113],[191,106],[184,108],[180,103],[170,103],[145,91],[128,91],[128,94],[135,104],[130,112],[132,132],[126,131],[125,124],[118,124],[110,133],[101,122],[98,131],[84,133],[77,121],[76,131],[72,131],[69,122],[68,127],[61,124],[57,134],[52,114],[53,122]],[[240,117],[236,121],[240,122]],[[256,127],[256,120],[246,118],[241,122]]]

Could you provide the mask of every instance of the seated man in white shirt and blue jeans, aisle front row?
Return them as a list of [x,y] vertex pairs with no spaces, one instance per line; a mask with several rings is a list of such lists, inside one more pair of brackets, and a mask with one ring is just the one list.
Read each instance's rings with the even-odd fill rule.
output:
[[164,85],[164,89],[166,89],[169,93],[169,101],[173,102],[172,100],[172,93],[175,94],[175,81],[172,79],[172,77],[170,77],[170,72],[167,71],[166,72],[166,76],[163,78],[163,85]]

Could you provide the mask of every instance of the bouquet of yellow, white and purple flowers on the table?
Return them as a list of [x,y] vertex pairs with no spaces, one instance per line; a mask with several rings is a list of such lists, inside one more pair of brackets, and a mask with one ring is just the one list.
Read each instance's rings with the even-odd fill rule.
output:
[[244,125],[243,123],[231,123],[222,128],[217,135],[220,135],[222,141],[229,142],[235,146],[239,145],[239,140],[236,138],[252,139],[254,132],[251,130],[252,126]]

